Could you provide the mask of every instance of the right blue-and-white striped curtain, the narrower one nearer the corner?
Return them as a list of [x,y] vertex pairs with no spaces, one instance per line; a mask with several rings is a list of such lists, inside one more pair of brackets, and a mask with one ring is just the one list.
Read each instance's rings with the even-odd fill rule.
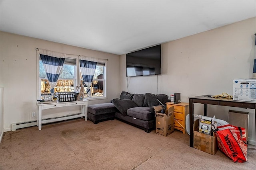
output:
[[82,77],[84,80],[84,84],[86,84],[87,86],[86,92],[89,98],[92,97],[92,92],[90,87],[92,85],[92,80],[96,70],[97,61],[98,59],[91,58],[91,57],[85,57],[85,58],[81,57],[81,59],[79,60]]

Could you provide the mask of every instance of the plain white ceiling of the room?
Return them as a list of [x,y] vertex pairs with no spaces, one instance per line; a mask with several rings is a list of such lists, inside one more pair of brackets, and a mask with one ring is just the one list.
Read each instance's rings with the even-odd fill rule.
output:
[[0,0],[0,30],[122,55],[256,16],[256,0]]

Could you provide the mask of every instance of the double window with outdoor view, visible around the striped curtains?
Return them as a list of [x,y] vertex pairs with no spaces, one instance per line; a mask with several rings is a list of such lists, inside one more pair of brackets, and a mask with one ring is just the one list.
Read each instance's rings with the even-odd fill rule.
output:
[[[58,78],[57,85],[54,87],[54,92],[73,92],[76,86],[83,84],[78,56],[70,55],[65,58],[62,72]],[[77,74],[79,72],[79,74]],[[46,77],[46,72],[39,59],[39,99],[46,100],[50,98],[50,85]],[[88,99],[86,90],[88,87],[84,84],[84,98]],[[106,97],[106,60],[99,60],[94,73],[92,86],[90,87],[92,96],[90,99],[105,98]]]

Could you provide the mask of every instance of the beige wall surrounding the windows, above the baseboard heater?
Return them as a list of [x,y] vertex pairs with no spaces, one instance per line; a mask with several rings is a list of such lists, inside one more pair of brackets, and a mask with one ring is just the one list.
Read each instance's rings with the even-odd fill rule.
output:
[[[31,112],[36,106],[36,50],[48,49],[67,54],[84,55],[108,60],[107,99],[88,104],[110,102],[120,96],[119,55],[83,49],[0,31],[0,87],[4,87],[4,129],[11,130],[16,122],[36,120]],[[79,109],[78,109],[79,110]]]

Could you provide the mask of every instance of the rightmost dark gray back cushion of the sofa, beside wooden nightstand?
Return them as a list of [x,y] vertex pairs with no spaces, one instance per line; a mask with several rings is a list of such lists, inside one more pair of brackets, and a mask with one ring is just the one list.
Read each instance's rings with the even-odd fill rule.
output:
[[152,107],[152,106],[158,106],[162,104],[165,104],[168,102],[168,96],[166,94],[151,94],[151,93],[146,93],[145,94],[145,100],[144,100],[144,107]]

